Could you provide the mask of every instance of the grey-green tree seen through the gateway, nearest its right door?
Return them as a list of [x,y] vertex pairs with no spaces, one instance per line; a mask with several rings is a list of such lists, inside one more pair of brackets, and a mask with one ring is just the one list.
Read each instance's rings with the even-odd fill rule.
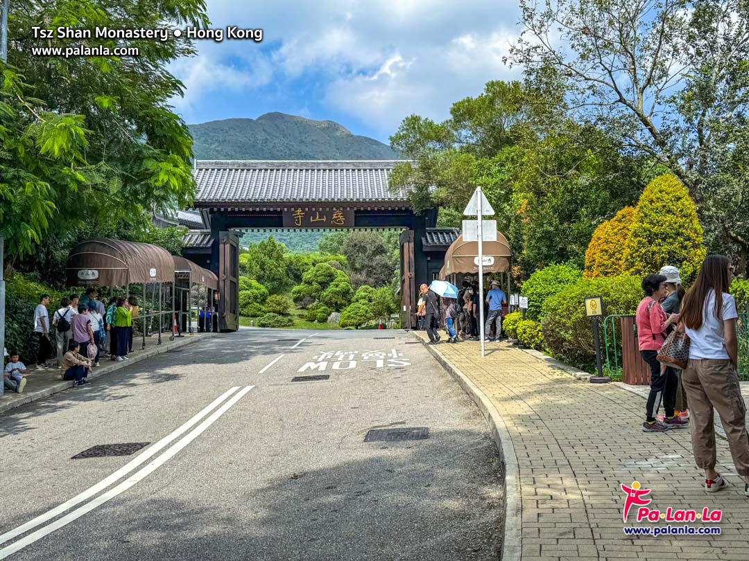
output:
[[383,286],[392,279],[395,263],[379,233],[352,232],[341,253],[346,257],[346,270],[369,279],[372,286]]

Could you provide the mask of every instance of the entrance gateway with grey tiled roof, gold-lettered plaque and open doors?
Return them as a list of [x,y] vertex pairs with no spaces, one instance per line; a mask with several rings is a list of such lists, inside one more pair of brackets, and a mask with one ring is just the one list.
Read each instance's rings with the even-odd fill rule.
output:
[[[239,326],[242,230],[402,229],[401,319],[413,325],[416,283],[436,278],[424,244],[437,209],[414,214],[389,176],[397,160],[196,160],[195,209],[210,230],[210,270],[219,278],[219,327]],[[206,256],[207,257],[207,256]],[[431,269],[435,269],[432,271]]]

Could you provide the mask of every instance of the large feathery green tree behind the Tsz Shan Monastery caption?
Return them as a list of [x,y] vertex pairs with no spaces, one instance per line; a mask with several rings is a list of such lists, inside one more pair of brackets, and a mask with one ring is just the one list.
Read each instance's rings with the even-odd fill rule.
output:
[[[205,27],[201,0],[21,0],[8,17],[8,62],[1,65],[0,233],[10,257],[79,227],[111,235],[122,224],[189,204],[192,140],[169,106],[183,85],[167,70],[194,54],[187,39],[109,40],[137,46],[135,57],[30,56],[40,46],[88,46],[85,39],[34,40],[34,26],[82,29],[164,22]],[[85,212],[81,212],[85,209]]]

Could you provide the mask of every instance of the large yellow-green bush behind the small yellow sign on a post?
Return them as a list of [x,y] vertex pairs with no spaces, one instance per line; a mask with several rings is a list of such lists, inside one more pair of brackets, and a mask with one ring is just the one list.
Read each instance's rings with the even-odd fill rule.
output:
[[[595,346],[590,319],[585,315],[585,298],[601,296],[606,315],[634,314],[643,298],[641,283],[642,279],[629,275],[583,278],[548,298],[541,321],[548,349],[574,366],[591,366],[595,361]],[[617,338],[621,341],[621,337]],[[613,352],[613,342],[610,345],[609,352]]]

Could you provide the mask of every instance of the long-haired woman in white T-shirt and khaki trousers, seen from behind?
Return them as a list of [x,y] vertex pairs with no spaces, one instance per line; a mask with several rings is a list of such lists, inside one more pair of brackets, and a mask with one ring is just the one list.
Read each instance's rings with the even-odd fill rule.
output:
[[736,473],[744,478],[744,494],[749,497],[749,435],[737,370],[739,314],[729,294],[732,277],[728,257],[709,255],[684,297],[679,322],[691,344],[682,383],[689,400],[694,461],[705,470],[706,491],[713,493],[728,485],[715,471],[715,408],[726,431]]

